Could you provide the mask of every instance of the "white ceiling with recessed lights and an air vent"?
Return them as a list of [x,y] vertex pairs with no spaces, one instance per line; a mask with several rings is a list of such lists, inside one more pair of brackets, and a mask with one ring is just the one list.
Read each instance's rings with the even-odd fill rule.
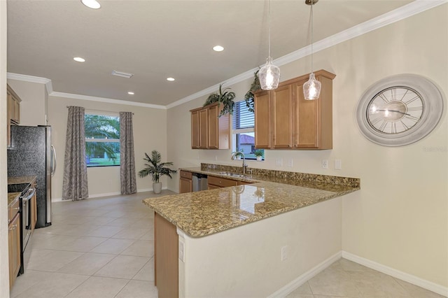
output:
[[[80,0],[8,0],[8,73],[48,78],[55,92],[167,106],[265,63],[267,1],[99,2],[93,10]],[[318,1],[314,41],[409,2]],[[272,0],[271,28],[273,59],[306,47],[309,6]],[[214,52],[217,44],[225,50]]]

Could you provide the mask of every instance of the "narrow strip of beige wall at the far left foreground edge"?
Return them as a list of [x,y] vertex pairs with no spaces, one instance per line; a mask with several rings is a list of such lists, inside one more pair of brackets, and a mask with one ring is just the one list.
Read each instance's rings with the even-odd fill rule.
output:
[[[0,123],[6,124],[6,1],[0,1]],[[1,125],[1,127],[6,127]],[[6,129],[0,129],[0,297],[9,297]]]

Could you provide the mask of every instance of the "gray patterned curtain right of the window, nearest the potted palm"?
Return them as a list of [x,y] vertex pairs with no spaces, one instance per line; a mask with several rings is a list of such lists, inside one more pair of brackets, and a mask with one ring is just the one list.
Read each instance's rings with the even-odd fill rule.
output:
[[121,194],[137,192],[134,134],[132,132],[132,113],[130,112],[120,112],[120,185]]

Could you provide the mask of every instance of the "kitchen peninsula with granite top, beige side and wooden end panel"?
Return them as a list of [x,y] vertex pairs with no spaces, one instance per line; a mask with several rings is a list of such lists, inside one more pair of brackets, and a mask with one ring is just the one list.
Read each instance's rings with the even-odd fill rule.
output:
[[340,197],[359,190],[359,179],[275,172],[144,199],[155,211],[159,297],[267,297],[339,254]]

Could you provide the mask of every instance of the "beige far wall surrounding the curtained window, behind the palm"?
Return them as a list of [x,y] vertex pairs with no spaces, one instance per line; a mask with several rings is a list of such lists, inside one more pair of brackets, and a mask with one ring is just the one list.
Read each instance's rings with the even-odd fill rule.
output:
[[[134,113],[134,154],[137,172],[144,167],[143,157],[145,152],[151,154],[151,150],[158,150],[162,153],[162,161],[167,161],[166,110],[50,96],[48,99],[48,125],[52,126],[52,143],[57,150],[57,170],[55,176],[52,178],[53,199],[61,199],[62,197],[66,121],[68,113],[66,106],[82,106],[87,110],[94,109]],[[87,178],[90,197],[120,193],[119,166],[88,168]],[[165,178],[162,178],[161,182],[164,183],[164,186],[167,185]],[[137,175],[137,190],[139,192],[152,190],[152,188],[151,176],[139,178]]]

